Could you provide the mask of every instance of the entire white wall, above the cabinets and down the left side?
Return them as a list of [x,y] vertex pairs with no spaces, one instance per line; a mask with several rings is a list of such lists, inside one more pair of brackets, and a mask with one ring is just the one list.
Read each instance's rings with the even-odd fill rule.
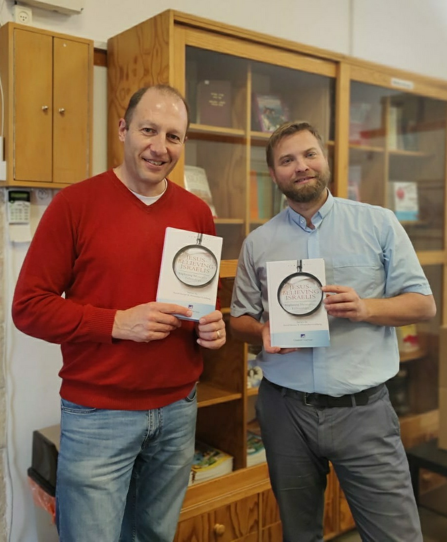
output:
[[[0,0],[1,24],[11,20],[13,3]],[[81,15],[33,8],[33,25],[91,38],[97,46],[105,47],[108,37],[169,8],[447,79],[445,0],[86,0]],[[95,68],[94,80],[93,172],[97,173],[106,167],[105,68]],[[34,222],[42,211],[42,205],[33,205]],[[8,315],[27,245],[12,247],[8,239],[0,243],[5,249],[7,275],[3,309]],[[59,421],[59,347],[25,337],[14,329],[10,319],[6,341],[8,480],[13,489],[8,495],[9,504],[13,503],[10,542],[52,542],[56,539],[54,527],[34,507],[26,471],[33,429]],[[8,513],[8,524],[10,518]]]

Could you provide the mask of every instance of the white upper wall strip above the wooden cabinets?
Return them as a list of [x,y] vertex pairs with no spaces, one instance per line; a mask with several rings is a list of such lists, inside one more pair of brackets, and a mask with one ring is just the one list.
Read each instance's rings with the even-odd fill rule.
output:
[[[26,0],[23,0],[24,3]],[[0,21],[12,0],[0,0]],[[40,28],[100,43],[165,9],[447,79],[445,0],[86,0],[81,15],[33,8]]]

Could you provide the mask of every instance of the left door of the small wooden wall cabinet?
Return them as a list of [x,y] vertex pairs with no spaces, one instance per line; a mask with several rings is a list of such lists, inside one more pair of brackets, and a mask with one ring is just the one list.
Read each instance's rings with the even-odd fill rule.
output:
[[14,180],[52,180],[53,38],[14,31]]

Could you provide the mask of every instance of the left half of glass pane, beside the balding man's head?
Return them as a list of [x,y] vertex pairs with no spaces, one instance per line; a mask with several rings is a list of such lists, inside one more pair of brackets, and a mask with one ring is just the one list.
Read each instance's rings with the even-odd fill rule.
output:
[[210,204],[223,260],[238,257],[245,237],[246,86],[246,60],[186,47],[185,186]]

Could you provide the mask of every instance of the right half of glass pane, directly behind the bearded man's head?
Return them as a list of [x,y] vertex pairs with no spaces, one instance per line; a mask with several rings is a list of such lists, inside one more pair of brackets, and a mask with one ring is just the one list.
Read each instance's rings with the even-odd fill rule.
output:
[[[270,220],[286,205],[285,196],[272,182],[266,164],[266,146],[271,133],[285,121],[309,122],[320,133],[334,158],[335,81],[262,62],[249,66],[251,79],[250,131],[250,230]],[[332,168],[331,168],[332,169]]]

